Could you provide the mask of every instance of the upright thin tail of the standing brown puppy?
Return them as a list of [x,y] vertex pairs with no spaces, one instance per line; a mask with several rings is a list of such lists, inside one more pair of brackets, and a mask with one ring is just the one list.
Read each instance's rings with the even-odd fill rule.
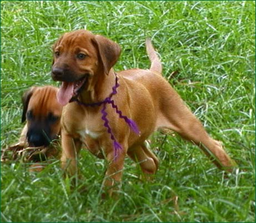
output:
[[151,62],[150,70],[161,74],[162,64],[149,38],[146,39],[146,49],[147,49],[149,60]]

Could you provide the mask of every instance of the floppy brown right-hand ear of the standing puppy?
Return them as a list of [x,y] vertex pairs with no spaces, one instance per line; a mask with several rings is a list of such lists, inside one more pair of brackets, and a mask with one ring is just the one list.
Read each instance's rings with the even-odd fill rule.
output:
[[121,48],[117,43],[100,35],[96,35],[94,37],[94,42],[98,47],[104,73],[108,75],[109,70],[117,63],[121,53]]

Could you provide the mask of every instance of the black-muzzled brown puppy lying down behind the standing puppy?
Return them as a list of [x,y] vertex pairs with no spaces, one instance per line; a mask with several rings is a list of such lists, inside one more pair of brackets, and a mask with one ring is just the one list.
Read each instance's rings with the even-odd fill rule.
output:
[[23,94],[22,123],[26,124],[17,144],[10,146],[15,159],[19,154],[26,160],[39,161],[59,154],[54,140],[61,132],[62,105],[57,101],[58,88],[32,87]]

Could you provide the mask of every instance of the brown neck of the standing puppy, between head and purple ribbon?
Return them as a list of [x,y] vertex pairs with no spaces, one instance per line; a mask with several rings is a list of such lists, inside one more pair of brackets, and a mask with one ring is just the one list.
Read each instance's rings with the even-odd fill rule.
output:
[[95,74],[95,77],[91,80],[91,87],[80,94],[79,100],[83,103],[101,102],[109,97],[115,84],[116,75],[113,69],[109,71],[108,75],[104,73]]

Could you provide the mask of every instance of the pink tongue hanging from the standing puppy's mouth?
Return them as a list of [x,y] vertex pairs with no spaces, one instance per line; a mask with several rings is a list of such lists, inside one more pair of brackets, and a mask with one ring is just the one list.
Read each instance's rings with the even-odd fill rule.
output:
[[68,104],[73,96],[74,83],[62,82],[61,88],[57,92],[57,100],[63,106]]

